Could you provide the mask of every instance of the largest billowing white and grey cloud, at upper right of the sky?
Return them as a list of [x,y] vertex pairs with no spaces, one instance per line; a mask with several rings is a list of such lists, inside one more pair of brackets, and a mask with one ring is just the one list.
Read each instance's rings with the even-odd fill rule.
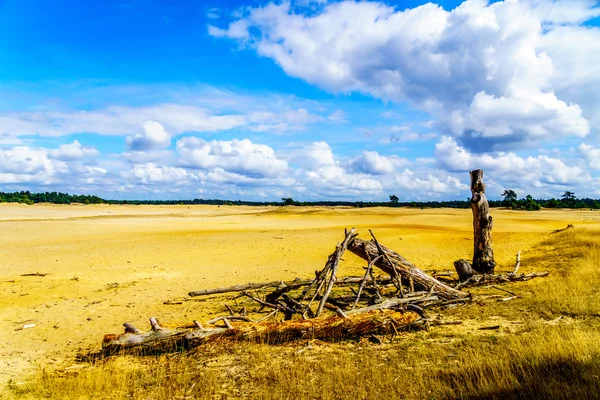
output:
[[[209,33],[238,40],[327,90],[408,101],[463,145],[491,151],[590,132],[590,104],[554,90],[568,73],[551,56],[566,50],[546,38],[597,16],[594,5],[467,0],[451,11],[431,3],[398,11],[381,2],[343,1],[315,12],[284,2],[250,9]],[[579,34],[587,40],[568,51],[576,59],[593,57],[592,36]]]

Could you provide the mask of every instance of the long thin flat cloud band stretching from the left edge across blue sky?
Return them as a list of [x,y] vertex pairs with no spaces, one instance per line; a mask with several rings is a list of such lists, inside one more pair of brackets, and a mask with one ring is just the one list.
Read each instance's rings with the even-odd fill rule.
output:
[[[228,109],[227,113],[189,104],[156,104],[144,107],[110,106],[93,111],[22,111],[0,112],[0,141],[14,143],[18,136],[65,136],[74,133],[97,133],[110,136],[131,136],[133,145],[162,145],[167,132],[220,132],[241,127],[265,132],[285,132],[304,129],[307,125],[338,122],[340,114],[328,116],[304,107],[286,106],[285,100],[270,104],[263,101],[221,93],[215,94],[211,106]],[[209,103],[208,99],[203,101]],[[276,100],[271,100],[275,102]],[[329,116],[331,117],[331,115]],[[160,124],[160,127],[156,124]],[[157,141],[158,140],[158,141]]]

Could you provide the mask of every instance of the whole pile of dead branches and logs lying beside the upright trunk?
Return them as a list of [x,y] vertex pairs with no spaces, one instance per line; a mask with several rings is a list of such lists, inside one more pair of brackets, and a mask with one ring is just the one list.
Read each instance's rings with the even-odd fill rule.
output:
[[[473,275],[460,283],[449,279],[448,274],[440,274],[437,279],[379,243],[369,232],[372,240],[365,241],[357,237],[354,228],[346,231],[344,240],[313,279],[190,292],[190,297],[237,293],[233,297],[235,305],[225,305],[227,315],[208,321],[209,327],[193,321],[193,325],[169,329],[151,318],[151,330],[142,332],[124,324],[123,334],[105,335],[103,352],[164,352],[216,340],[277,344],[299,339],[335,341],[393,335],[407,329],[427,329],[430,322],[443,324],[431,321],[426,310],[471,301],[471,295],[462,288],[545,276],[517,275],[517,264],[508,275]],[[362,276],[338,278],[346,250],[366,261]],[[385,275],[376,276],[376,269]]]

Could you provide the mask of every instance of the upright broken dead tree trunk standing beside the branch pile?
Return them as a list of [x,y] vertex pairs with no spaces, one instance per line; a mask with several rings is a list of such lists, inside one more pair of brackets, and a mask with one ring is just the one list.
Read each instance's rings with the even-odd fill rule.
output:
[[493,274],[496,268],[492,247],[490,206],[485,196],[483,170],[471,171],[471,210],[473,211],[473,269],[482,274]]

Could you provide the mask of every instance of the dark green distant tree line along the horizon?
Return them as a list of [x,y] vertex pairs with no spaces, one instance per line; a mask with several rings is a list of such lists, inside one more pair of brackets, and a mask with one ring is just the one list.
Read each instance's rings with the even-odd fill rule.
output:
[[[565,192],[560,199],[534,199],[527,195],[518,199],[517,193],[506,189],[502,193],[503,200],[489,200],[490,207],[506,207],[513,210],[535,211],[541,208],[586,208],[600,209],[600,201],[595,199],[578,199],[573,192]],[[413,207],[413,208],[469,208],[469,199],[449,201],[400,201],[398,196],[390,195],[389,201],[296,201],[291,197],[284,197],[281,201],[242,201],[218,199],[193,199],[193,200],[105,200],[98,196],[75,195],[60,192],[31,193],[0,192],[0,203],[54,203],[54,204],[133,204],[133,205],[194,205],[207,204],[216,206],[346,206],[346,207]]]

